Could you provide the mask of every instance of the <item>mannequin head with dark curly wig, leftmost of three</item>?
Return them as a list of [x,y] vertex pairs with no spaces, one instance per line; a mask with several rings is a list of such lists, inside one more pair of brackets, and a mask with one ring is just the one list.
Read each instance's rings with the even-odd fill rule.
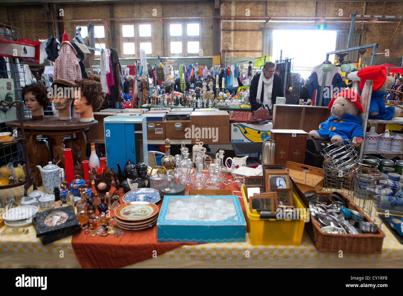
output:
[[45,85],[32,83],[22,89],[25,106],[32,112],[33,119],[44,118],[44,111],[48,108],[48,89]]

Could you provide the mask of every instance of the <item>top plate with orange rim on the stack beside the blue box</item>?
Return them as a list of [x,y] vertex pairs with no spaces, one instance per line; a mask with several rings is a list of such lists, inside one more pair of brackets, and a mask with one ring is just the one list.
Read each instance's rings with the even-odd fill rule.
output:
[[150,219],[158,214],[158,207],[147,201],[124,203],[115,210],[115,216],[124,221],[140,221]]

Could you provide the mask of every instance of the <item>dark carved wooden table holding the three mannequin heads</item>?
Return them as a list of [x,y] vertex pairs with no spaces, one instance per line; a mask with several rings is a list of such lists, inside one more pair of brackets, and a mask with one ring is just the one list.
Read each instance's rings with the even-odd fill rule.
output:
[[[97,120],[80,122],[79,118],[72,118],[71,120],[59,120],[58,117],[45,117],[40,120],[25,119],[24,132],[28,139],[28,156],[31,172],[34,173],[35,180],[39,182],[40,174],[39,170],[35,170],[35,168],[41,164],[41,160],[43,160],[46,153],[43,147],[36,141],[38,135],[48,136],[50,157],[56,162],[60,160],[59,166],[64,167],[64,148],[66,146],[67,148],[71,148],[73,163],[79,165],[81,161],[85,160],[85,149],[87,147],[87,137],[84,132],[97,124]],[[21,128],[19,120],[6,122],[6,125]],[[70,136],[72,139],[65,140],[65,143],[63,143],[63,139]],[[79,157],[80,151],[81,157]]]

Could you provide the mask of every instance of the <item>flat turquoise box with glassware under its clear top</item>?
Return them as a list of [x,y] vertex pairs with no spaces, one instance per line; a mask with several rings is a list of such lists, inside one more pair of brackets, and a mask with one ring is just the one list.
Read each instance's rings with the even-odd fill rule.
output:
[[[219,203],[224,205],[217,207]],[[210,216],[219,221],[210,221]],[[165,195],[162,201],[159,242],[243,242],[245,235],[246,221],[236,195]]]

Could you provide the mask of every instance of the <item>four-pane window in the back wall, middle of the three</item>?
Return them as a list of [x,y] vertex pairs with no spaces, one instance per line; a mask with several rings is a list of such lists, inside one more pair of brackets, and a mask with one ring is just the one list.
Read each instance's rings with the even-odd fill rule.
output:
[[144,49],[147,55],[154,53],[152,24],[122,24],[120,28],[120,52],[122,57],[139,57],[139,49]]

